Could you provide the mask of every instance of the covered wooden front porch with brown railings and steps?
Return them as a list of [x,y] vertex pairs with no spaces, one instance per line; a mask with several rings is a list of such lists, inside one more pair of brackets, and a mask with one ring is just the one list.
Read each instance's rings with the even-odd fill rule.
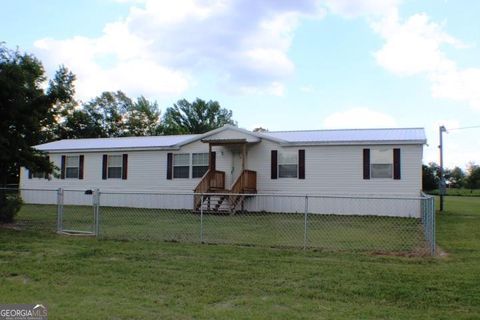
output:
[[[247,139],[203,139],[208,143],[208,170],[194,189],[194,211],[202,207],[207,211],[234,213],[243,206],[244,199],[257,192],[257,172],[248,169],[248,148],[254,143]],[[216,168],[214,147],[221,146],[223,152],[232,155],[231,184],[226,185],[225,171]],[[235,155],[240,155],[240,163]],[[201,194],[204,194],[202,197]],[[203,198],[203,201],[202,201]]]

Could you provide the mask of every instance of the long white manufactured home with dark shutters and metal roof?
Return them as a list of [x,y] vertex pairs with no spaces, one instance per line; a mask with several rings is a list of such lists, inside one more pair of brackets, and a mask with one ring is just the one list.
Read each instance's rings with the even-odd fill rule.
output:
[[[251,132],[230,125],[197,135],[60,140],[35,147],[59,172],[47,176],[22,168],[20,187],[178,193],[187,199],[127,203],[118,197],[115,206],[198,210],[202,200],[215,198],[214,209],[288,212],[297,211],[295,204],[274,209],[255,201],[253,208],[251,199],[255,194],[418,197],[425,143],[422,128]],[[43,203],[28,196],[24,201]],[[418,208],[405,210],[397,203],[398,208],[378,212],[357,205],[350,213],[418,215]]]

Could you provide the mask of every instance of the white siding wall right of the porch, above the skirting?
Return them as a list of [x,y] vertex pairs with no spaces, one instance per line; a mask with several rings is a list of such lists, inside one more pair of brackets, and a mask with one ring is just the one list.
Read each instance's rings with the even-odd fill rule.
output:
[[[248,168],[257,171],[259,193],[418,196],[421,190],[421,145],[396,145],[401,152],[401,179],[363,179],[363,149],[375,146],[281,147],[262,141],[248,151]],[[271,179],[271,150],[305,150],[305,180]],[[393,151],[392,151],[393,152]]]

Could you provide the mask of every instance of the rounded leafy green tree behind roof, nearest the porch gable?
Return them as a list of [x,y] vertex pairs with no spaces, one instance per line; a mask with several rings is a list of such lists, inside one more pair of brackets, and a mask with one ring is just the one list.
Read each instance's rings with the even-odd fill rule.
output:
[[221,108],[217,101],[199,98],[192,103],[179,100],[167,108],[163,117],[165,134],[205,133],[225,124],[236,125],[232,111]]

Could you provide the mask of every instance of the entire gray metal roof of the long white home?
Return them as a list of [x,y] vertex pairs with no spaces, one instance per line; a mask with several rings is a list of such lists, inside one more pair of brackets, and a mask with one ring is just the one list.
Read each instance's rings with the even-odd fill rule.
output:
[[84,151],[84,150],[128,150],[128,149],[173,149],[184,144],[208,137],[212,132],[236,130],[248,132],[253,136],[277,141],[282,145],[299,144],[381,144],[381,143],[426,143],[423,128],[394,129],[343,129],[343,130],[306,130],[306,131],[271,131],[249,132],[233,126],[225,126],[205,134],[125,137],[125,138],[94,138],[66,139],[35,146],[43,151]]

